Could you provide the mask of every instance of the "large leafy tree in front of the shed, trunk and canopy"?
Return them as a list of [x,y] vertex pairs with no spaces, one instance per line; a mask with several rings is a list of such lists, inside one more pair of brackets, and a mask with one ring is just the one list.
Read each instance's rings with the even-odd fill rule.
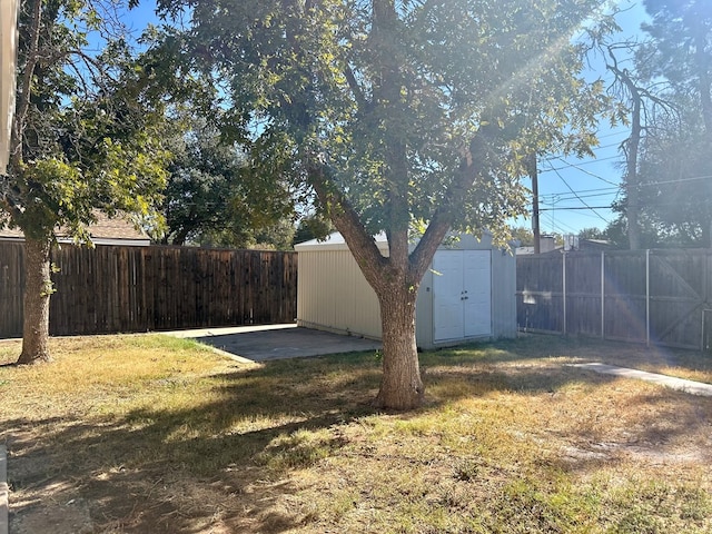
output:
[[[185,68],[211,77],[249,165],[342,233],[380,305],[375,404],[409,409],[421,279],[451,228],[524,211],[525,157],[589,152],[601,83],[574,42],[599,2],[160,0],[189,8]],[[388,255],[373,235],[384,230]]]

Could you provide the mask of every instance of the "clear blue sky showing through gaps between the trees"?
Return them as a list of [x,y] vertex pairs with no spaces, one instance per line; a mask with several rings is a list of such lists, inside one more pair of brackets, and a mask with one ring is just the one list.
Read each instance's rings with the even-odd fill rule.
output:
[[[616,17],[621,27],[616,40],[640,36],[641,23],[647,20],[642,0],[613,0],[612,6],[621,11]],[[137,9],[126,13],[125,22],[138,36],[148,22],[158,23],[154,9],[155,0],[141,1]],[[611,80],[605,67],[596,62],[595,58],[585,76],[590,80]],[[599,130],[600,146],[594,148],[595,158],[565,159],[553,154],[540,159],[537,167],[542,235],[575,235],[584,228],[604,229],[616,218],[610,206],[622,192],[624,160],[620,146],[629,135],[627,127],[612,129],[603,121]],[[531,187],[528,178],[525,178],[524,184]],[[531,228],[532,220],[518,218],[512,225]]]

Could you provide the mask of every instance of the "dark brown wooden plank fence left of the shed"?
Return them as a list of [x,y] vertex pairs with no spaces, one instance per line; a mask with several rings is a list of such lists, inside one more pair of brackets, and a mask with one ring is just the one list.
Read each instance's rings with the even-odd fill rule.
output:
[[[52,335],[291,323],[296,253],[62,245]],[[0,338],[22,334],[24,251],[0,243]]]

